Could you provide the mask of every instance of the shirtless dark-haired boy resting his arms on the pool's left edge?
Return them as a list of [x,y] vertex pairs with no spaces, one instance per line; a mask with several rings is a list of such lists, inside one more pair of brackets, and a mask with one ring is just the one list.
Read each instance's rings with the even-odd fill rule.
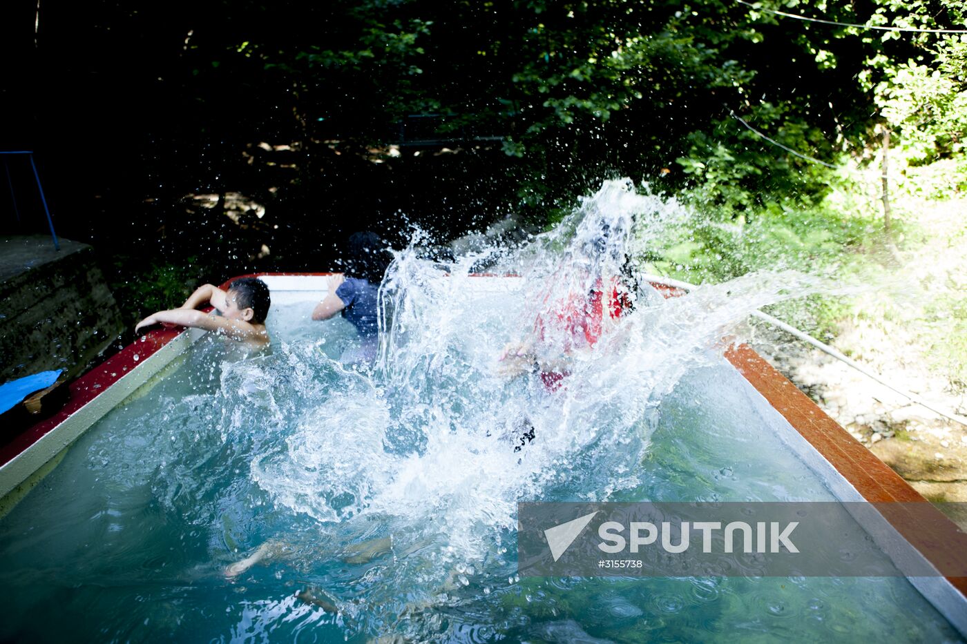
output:
[[[218,314],[195,310],[205,304],[216,307]],[[152,313],[138,322],[134,332],[154,324],[174,324],[214,331],[243,342],[251,349],[261,349],[269,345],[265,318],[271,304],[269,287],[259,278],[236,279],[228,285],[227,291],[204,284],[196,288],[180,308]]]

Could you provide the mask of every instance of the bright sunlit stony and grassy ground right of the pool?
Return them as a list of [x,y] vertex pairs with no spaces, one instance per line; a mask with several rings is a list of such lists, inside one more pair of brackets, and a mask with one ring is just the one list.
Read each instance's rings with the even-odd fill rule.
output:
[[[920,202],[923,206],[923,202]],[[899,389],[967,416],[958,357],[967,307],[967,199],[907,216],[922,239],[891,251],[884,283],[857,298],[835,348]],[[886,253],[884,253],[886,254]],[[902,288],[896,288],[901,283]],[[937,307],[938,302],[946,303]],[[959,336],[959,337],[956,337]],[[753,346],[826,413],[967,529],[967,426],[944,419],[827,354],[781,332],[758,329]],[[967,505],[963,508],[967,509]]]

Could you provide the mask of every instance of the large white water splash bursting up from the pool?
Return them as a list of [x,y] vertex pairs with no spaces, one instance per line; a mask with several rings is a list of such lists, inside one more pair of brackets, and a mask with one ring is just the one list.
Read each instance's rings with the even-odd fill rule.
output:
[[[311,572],[354,542],[390,539],[393,560],[366,568],[365,593],[340,594],[323,575],[347,617],[378,623],[458,594],[466,570],[484,585],[513,570],[518,501],[606,500],[639,485],[662,396],[713,363],[750,311],[819,287],[793,272],[749,275],[666,300],[637,282],[631,258],[688,217],[616,181],[526,244],[447,265],[424,258],[418,231],[384,280],[371,371],[300,345],[229,369],[222,391],[278,431],[251,439],[251,480],[282,512],[323,525],[285,537],[294,565]],[[482,263],[513,277],[482,280]],[[509,344],[533,362],[515,377],[499,360]],[[402,587],[413,590],[400,603]]]

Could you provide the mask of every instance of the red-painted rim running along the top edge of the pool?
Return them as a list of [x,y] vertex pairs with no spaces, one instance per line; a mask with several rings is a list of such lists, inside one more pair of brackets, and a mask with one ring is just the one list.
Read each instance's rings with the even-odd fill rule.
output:
[[[226,280],[221,288],[225,289],[238,278],[259,278],[268,276],[331,276],[335,273],[257,273],[236,276]],[[477,277],[490,277],[479,274]],[[664,284],[654,284],[665,297],[675,297],[683,293],[680,289]],[[161,329],[151,331],[135,340],[120,352],[107,359],[87,374],[75,380],[70,386],[71,398],[67,405],[53,416],[32,425],[9,444],[0,448],[0,466],[10,462],[36,443],[48,431],[73,415],[78,409],[100,395],[109,386],[121,379],[140,361],[153,355],[162,346],[178,337],[184,329]],[[137,359],[135,360],[135,356]],[[767,363],[747,344],[730,347],[725,352],[729,361],[747,379],[777,412],[802,435],[815,450],[835,467],[847,482],[852,484],[866,501],[871,503],[890,502],[929,502],[904,481],[876,454],[867,450],[863,444],[851,436],[842,426],[801,392],[775,367]],[[931,541],[927,543],[942,546],[946,535],[959,534],[959,528],[941,512],[936,511],[934,521],[936,530],[931,531]],[[903,522],[894,522],[899,532],[911,543],[922,544],[923,535],[909,529],[904,530]],[[946,532],[945,532],[946,531]],[[920,548],[931,561],[929,552]],[[942,550],[939,547],[938,550]],[[948,577],[952,586],[967,598],[967,577]]]

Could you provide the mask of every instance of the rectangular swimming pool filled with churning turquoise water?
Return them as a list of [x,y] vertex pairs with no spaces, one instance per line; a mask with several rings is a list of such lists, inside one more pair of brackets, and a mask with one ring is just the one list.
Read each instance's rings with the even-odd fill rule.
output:
[[[481,330],[506,330],[471,319],[513,307],[520,279],[426,283],[425,297],[461,298],[421,322],[420,336],[438,350],[400,344],[409,368],[375,375],[334,360],[350,341],[348,325],[335,321],[323,337],[308,323],[324,278],[265,279],[272,355],[231,362],[220,340],[161,333],[166,343],[136,342],[105,365],[103,377],[120,381],[97,388],[100,406],[72,418],[103,417],[86,431],[69,421],[66,435],[79,438],[0,520],[8,609],[0,638],[961,638],[952,621],[963,619],[962,596],[942,577],[915,580],[918,591],[886,577],[516,576],[518,499],[854,500],[869,492],[872,483],[829,456],[848,443],[824,454],[809,427],[787,420],[802,425],[799,414],[821,431],[828,419],[783,392],[746,348],[727,356],[759,389],[716,352],[676,361],[684,349],[672,346],[648,369],[626,368],[620,357],[592,368],[587,377],[601,395],[571,386],[549,405],[526,382],[487,375],[493,337]],[[478,333],[451,333],[459,328]],[[671,380],[641,399],[632,391]],[[523,454],[497,429],[519,413],[542,439]],[[584,429],[556,434],[559,425]],[[624,431],[629,425],[637,429]],[[48,442],[48,450],[58,444]],[[857,454],[852,462],[875,467]],[[879,484],[907,494],[893,480]],[[275,558],[225,576],[264,542],[275,543]]]

